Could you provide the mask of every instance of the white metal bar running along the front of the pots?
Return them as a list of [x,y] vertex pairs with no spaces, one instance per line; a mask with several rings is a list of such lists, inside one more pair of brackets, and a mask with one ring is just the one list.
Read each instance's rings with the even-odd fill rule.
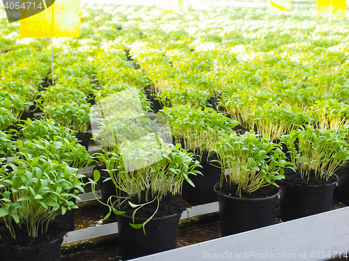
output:
[[349,255],[348,242],[349,207],[343,207],[134,261],[329,260]]

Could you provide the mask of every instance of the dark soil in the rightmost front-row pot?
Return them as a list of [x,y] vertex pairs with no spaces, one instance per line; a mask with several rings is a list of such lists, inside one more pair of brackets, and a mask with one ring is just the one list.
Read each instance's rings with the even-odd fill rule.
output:
[[320,178],[315,177],[315,171],[311,171],[309,181],[306,178],[303,178],[290,168],[285,168],[285,179],[279,180],[276,183],[281,187],[295,187],[296,184],[304,184],[304,185],[318,185],[325,186],[326,184],[332,184],[337,181],[336,176],[329,177],[329,180],[322,180]]

